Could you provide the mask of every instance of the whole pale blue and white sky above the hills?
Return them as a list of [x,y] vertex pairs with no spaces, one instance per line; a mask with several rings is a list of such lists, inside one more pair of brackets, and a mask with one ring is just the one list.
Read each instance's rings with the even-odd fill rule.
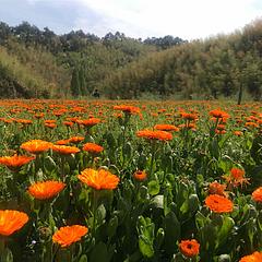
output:
[[83,29],[143,38],[204,39],[262,19],[262,0],[0,0],[0,21],[27,21],[57,34]]

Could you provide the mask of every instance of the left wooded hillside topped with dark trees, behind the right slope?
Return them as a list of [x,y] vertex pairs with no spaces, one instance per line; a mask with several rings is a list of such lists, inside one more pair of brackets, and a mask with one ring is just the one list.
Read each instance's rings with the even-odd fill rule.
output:
[[14,27],[0,23],[1,96],[90,95],[117,69],[182,41],[171,36],[142,41],[118,32],[103,38],[82,31],[56,35],[27,22]]

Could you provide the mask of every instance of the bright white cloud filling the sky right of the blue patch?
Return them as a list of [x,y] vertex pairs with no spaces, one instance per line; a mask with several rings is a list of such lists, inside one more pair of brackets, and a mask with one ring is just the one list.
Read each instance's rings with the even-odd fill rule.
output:
[[[230,33],[262,14],[255,0],[76,0],[100,21],[80,16],[75,26],[98,35],[120,31],[134,37],[174,35],[187,39]],[[83,10],[84,11],[84,10]],[[92,24],[92,25],[91,25]]]

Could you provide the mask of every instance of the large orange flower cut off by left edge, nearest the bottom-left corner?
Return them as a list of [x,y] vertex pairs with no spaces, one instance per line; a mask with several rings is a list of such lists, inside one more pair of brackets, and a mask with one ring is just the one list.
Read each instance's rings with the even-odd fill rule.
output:
[[0,210],[0,235],[12,235],[14,231],[21,229],[28,219],[28,216],[24,212]]

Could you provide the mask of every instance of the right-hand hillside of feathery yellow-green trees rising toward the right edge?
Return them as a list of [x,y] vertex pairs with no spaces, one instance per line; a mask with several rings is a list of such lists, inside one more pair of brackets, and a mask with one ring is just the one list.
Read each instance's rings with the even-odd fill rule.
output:
[[262,20],[230,35],[194,40],[127,64],[99,83],[114,98],[143,93],[181,98],[262,98]]

